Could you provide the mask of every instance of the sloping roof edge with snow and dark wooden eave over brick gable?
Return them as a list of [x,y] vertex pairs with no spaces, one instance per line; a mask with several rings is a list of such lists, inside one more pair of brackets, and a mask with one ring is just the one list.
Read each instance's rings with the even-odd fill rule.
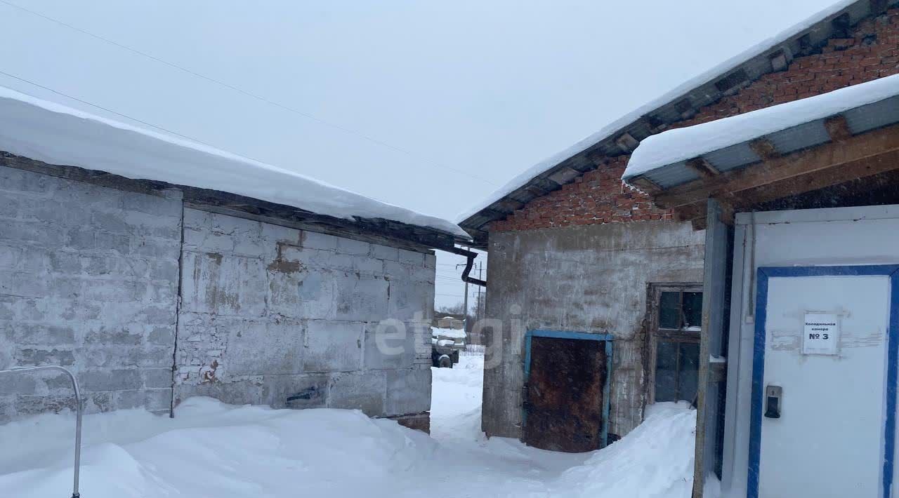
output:
[[571,183],[608,158],[632,153],[646,137],[692,118],[700,109],[738,92],[764,74],[785,69],[793,57],[814,53],[828,39],[846,36],[851,26],[895,4],[899,0],[841,0],[833,4],[532,166],[485,202],[460,214],[459,226],[474,238],[472,247],[487,249],[488,223],[502,220],[531,200]]

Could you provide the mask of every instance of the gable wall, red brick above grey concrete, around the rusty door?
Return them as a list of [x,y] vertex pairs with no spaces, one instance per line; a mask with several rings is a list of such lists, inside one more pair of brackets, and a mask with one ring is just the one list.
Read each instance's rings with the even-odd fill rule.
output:
[[[736,116],[892,74],[899,74],[895,8],[862,20],[847,38],[830,39],[794,57],[784,70],[735,88],[668,128]],[[608,329],[615,334],[610,432],[624,435],[639,423],[645,379],[638,365],[644,362],[644,351],[635,334],[642,328],[646,284],[702,282],[703,232],[695,232],[683,247],[671,245],[668,237],[689,230],[689,225],[674,222],[670,211],[622,186],[628,159],[629,154],[595,156],[596,170],[490,223],[487,316],[506,325],[502,348],[487,348],[487,363],[494,352],[502,354],[496,368],[485,370],[483,427],[488,434],[521,435],[523,358],[516,353],[521,337],[508,329],[512,318],[521,319],[525,330]],[[639,239],[651,232],[654,237]],[[585,234],[590,233],[611,239],[573,243],[585,236],[589,240]],[[620,247],[611,248],[615,243]],[[562,261],[567,266],[559,266]],[[523,310],[521,316],[509,311],[513,304]]]

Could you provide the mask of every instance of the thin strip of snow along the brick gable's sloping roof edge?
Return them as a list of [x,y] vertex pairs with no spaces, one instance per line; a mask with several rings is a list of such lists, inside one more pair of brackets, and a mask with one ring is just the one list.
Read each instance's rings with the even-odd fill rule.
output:
[[[892,3],[895,2],[891,2],[891,4]],[[763,73],[770,72],[771,65],[767,62],[767,56],[777,52],[780,49],[783,49],[785,52],[788,52],[788,57],[791,58],[792,52],[790,45],[799,36],[806,32],[814,35],[812,40],[813,43],[822,42],[823,39],[827,39],[830,36],[829,31],[822,27],[822,23],[826,22],[828,19],[836,16],[837,14],[840,14],[843,11],[849,10],[853,11],[853,22],[858,21],[860,16],[868,15],[868,13],[870,12],[868,2],[860,0],[837,1],[836,3],[823,9],[822,11],[810,16],[805,21],[799,22],[796,25],[788,28],[787,30],[781,31],[778,35],[773,36],[769,39],[765,39],[760,43],[752,46],[751,48],[747,48],[740,54],[731,57],[728,60],[725,60],[721,64],[710,68],[708,71],[699,74],[684,83],[681,83],[671,91],[665,92],[662,96],[654,100],[650,100],[645,105],[634,109],[625,116],[615,119],[610,124],[601,127],[601,129],[596,133],[585,137],[583,140],[577,142],[576,144],[573,144],[565,150],[553,154],[547,159],[531,166],[529,169],[522,171],[521,174],[511,179],[508,183],[503,185],[503,187],[495,190],[494,193],[486,197],[483,201],[479,202],[477,205],[472,206],[467,211],[458,214],[457,222],[462,224],[466,228],[478,228],[478,226],[475,225],[482,225],[485,222],[473,223],[473,218],[485,209],[491,208],[494,203],[503,200],[503,198],[512,196],[513,193],[515,193],[516,191],[520,191],[521,188],[527,187],[535,179],[539,178],[540,176],[545,176],[551,170],[554,170],[560,165],[563,165],[563,163],[568,162],[578,154],[583,154],[589,151],[595,145],[603,141],[613,141],[616,137],[618,137],[625,131],[628,131],[628,127],[633,126],[641,118],[660,111],[664,107],[677,107],[677,103],[681,102],[686,96],[690,95],[691,92],[695,92],[700,89],[700,87],[703,89],[703,91],[697,92],[698,95],[696,95],[695,98],[691,99],[693,100],[692,103],[694,107],[702,107],[703,105],[708,105],[707,103],[703,103],[701,100],[707,99],[708,103],[717,100],[717,95],[722,94],[722,91],[715,88],[715,83],[725,74],[730,74],[738,68],[745,68],[747,70],[746,72],[750,73],[749,77],[754,79],[759,77]],[[760,57],[765,57],[766,59],[764,63],[761,63],[761,66],[752,68],[744,66],[753,59],[757,59]],[[708,89],[705,88],[708,85],[712,86]],[[651,135],[651,133],[647,135]],[[572,179],[574,179],[574,176],[566,178],[561,183],[567,183]]]

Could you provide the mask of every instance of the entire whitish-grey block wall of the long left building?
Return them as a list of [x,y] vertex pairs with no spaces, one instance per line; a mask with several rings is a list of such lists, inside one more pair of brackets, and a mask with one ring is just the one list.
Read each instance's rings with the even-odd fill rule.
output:
[[[212,396],[426,428],[434,268],[432,254],[185,207],[177,190],[0,167],[0,369],[66,365],[88,412]],[[70,399],[58,375],[0,375],[0,420]]]

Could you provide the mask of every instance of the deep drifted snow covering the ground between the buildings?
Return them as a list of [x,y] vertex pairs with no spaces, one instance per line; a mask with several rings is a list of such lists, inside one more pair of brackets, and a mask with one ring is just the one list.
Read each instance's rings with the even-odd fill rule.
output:
[[[192,398],[170,419],[85,417],[82,496],[690,496],[694,412],[654,406],[606,450],[568,455],[480,432],[483,358],[434,370],[432,438],[348,410],[272,410]],[[0,490],[67,496],[71,415],[0,425]]]

